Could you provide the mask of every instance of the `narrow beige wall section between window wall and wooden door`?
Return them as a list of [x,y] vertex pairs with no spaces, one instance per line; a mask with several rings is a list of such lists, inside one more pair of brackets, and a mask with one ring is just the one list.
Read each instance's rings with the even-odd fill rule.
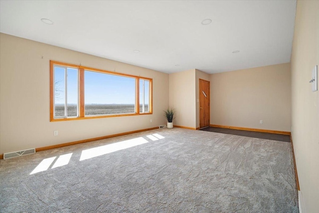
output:
[[169,74],[169,106],[176,110],[174,125],[196,128],[195,69]]

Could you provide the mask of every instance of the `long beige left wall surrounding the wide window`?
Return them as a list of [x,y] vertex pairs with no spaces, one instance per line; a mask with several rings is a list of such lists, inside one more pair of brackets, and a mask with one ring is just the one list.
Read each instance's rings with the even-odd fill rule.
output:
[[[49,60],[153,78],[153,114],[49,122]],[[167,94],[168,74],[0,34],[0,154],[157,127]]]

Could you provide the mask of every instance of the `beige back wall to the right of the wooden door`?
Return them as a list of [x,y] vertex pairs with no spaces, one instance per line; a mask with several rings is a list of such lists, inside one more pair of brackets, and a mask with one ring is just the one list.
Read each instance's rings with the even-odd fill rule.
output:
[[290,63],[212,74],[210,92],[210,124],[290,132]]

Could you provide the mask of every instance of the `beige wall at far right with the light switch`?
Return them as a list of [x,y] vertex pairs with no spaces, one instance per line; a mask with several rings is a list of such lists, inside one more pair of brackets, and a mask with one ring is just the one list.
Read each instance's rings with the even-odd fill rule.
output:
[[302,209],[319,211],[319,91],[309,81],[319,65],[319,1],[298,0],[291,57],[292,138]]

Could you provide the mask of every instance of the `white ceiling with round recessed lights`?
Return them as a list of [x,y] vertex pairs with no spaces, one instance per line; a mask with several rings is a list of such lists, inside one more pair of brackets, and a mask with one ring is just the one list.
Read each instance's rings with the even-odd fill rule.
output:
[[166,73],[216,73],[290,62],[295,15],[296,0],[1,0],[0,32]]

